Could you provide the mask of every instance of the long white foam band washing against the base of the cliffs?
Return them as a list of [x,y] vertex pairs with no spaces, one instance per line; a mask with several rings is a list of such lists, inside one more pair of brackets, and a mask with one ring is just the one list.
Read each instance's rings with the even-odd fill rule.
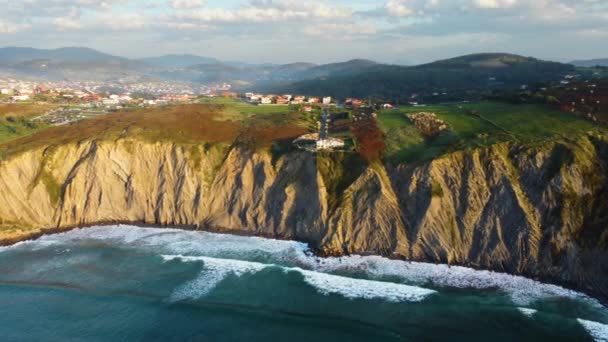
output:
[[[498,289],[508,294],[518,306],[528,306],[539,299],[562,297],[584,300],[602,307],[599,302],[584,294],[520,276],[459,266],[390,260],[379,256],[325,259],[314,256],[306,244],[259,237],[118,225],[96,226],[44,236],[33,244],[72,243],[81,240],[123,244],[125,248],[139,248],[154,254],[241,259],[299,267],[324,274],[365,274],[366,278],[374,281],[397,278],[404,284],[413,286],[426,287],[431,284],[439,288]],[[22,244],[18,248],[30,248],[30,245]],[[221,278],[220,275],[217,277]]]

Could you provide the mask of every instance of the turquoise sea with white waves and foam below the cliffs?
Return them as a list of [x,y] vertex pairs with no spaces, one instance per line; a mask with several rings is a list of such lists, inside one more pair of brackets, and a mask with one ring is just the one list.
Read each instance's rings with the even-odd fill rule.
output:
[[95,227],[0,249],[0,340],[606,341],[595,300],[295,242]]

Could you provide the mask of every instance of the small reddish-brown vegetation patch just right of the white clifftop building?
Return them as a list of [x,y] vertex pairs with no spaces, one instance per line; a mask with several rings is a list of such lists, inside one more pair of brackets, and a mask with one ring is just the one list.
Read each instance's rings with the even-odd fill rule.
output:
[[384,135],[376,119],[361,119],[351,126],[351,133],[357,140],[357,152],[368,161],[380,159],[386,148]]

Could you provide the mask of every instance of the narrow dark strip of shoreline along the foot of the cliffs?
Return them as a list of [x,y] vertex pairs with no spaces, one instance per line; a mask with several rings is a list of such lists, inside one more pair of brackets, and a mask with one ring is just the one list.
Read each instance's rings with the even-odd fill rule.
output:
[[476,265],[466,264],[466,263],[447,264],[447,263],[435,263],[435,262],[428,261],[428,260],[407,259],[407,258],[403,258],[403,257],[397,256],[397,255],[381,255],[381,254],[374,254],[374,253],[327,254],[327,253],[323,253],[323,251],[321,251],[317,248],[313,248],[309,241],[303,241],[303,240],[298,240],[298,239],[283,237],[283,236],[272,236],[270,234],[256,234],[255,232],[245,231],[245,230],[226,231],[226,230],[222,230],[221,227],[205,227],[204,229],[201,229],[201,226],[199,226],[199,225],[161,225],[161,224],[150,224],[150,223],[144,223],[144,222],[104,221],[104,222],[90,223],[90,224],[86,224],[86,225],[56,227],[56,228],[41,228],[37,232],[33,232],[31,234],[24,234],[22,237],[2,239],[2,240],[0,240],[0,247],[10,247],[12,245],[15,245],[15,244],[18,244],[21,242],[36,241],[43,236],[67,233],[67,232],[70,232],[70,231],[76,230],[76,229],[88,229],[88,228],[92,228],[92,227],[96,227],[96,226],[104,227],[104,226],[120,226],[120,225],[125,225],[125,226],[128,225],[128,226],[139,227],[139,228],[153,228],[153,229],[158,228],[158,229],[176,229],[176,230],[183,230],[183,231],[199,231],[199,232],[209,232],[209,233],[244,236],[244,237],[261,237],[261,238],[274,239],[274,240],[280,240],[280,241],[294,241],[294,242],[300,242],[300,243],[306,244],[308,246],[308,248],[310,249],[310,251],[312,251],[313,254],[319,258],[347,257],[347,256],[353,256],[353,255],[380,256],[380,257],[384,257],[384,258],[387,258],[390,260],[399,260],[399,261],[404,261],[404,262],[418,262],[418,263],[426,263],[426,264],[431,264],[431,265],[447,265],[448,267],[457,266],[457,267],[469,268],[469,269],[472,269],[475,271],[490,271],[490,272],[494,272],[497,274],[520,276],[520,277],[524,277],[524,278],[538,281],[541,283],[556,285],[556,286],[560,286],[567,290],[579,292],[592,299],[597,300],[601,305],[608,308],[608,298],[604,298],[604,296],[601,293],[596,292],[596,291],[589,291],[587,289],[578,288],[576,286],[573,286],[566,282],[559,281],[557,279],[538,277],[538,276],[534,276],[534,275],[526,274],[526,273],[516,274],[516,273],[502,272],[502,271],[497,271],[497,270],[492,270],[492,269],[487,269],[487,268],[481,268],[481,267],[477,267]]

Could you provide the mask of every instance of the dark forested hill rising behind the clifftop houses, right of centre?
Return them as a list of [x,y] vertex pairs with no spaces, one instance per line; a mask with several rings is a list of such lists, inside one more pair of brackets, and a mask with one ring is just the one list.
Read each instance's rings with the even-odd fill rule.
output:
[[461,99],[493,87],[559,80],[574,66],[511,54],[475,54],[414,67],[374,64],[359,72],[293,82],[271,92],[331,95],[338,98],[378,96],[407,101],[411,94],[445,94],[442,100]]

